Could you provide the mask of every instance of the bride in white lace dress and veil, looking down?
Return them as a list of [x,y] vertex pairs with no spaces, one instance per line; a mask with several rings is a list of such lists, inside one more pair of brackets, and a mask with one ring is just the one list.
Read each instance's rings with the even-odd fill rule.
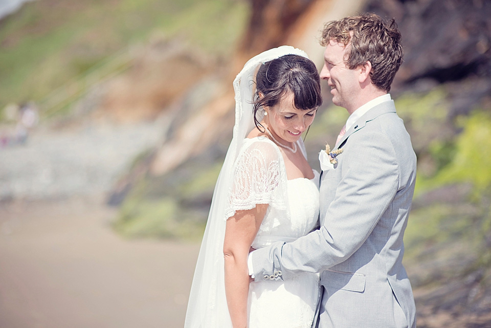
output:
[[245,63],[234,80],[235,125],[194,273],[186,328],[310,327],[318,276],[281,272],[250,282],[249,249],[315,229],[319,173],[302,133],[322,104],[315,64],[282,46]]

